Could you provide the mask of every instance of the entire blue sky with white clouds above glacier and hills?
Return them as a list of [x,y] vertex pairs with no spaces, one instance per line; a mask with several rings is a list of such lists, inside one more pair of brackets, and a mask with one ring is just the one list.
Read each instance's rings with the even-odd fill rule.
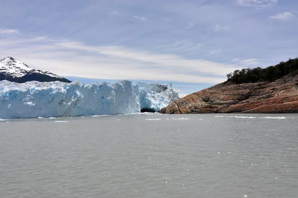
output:
[[0,0],[0,58],[83,83],[172,83],[298,56],[297,0]]

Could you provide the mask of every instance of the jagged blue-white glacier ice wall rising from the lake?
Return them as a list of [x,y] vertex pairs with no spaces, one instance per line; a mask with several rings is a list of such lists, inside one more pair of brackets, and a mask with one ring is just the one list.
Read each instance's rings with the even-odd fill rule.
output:
[[158,111],[179,99],[171,84],[0,81],[0,118],[63,117]]

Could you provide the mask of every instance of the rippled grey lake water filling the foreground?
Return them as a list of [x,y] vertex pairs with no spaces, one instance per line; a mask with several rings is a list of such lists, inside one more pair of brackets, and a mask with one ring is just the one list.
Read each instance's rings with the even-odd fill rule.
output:
[[0,121],[0,198],[297,198],[298,114]]

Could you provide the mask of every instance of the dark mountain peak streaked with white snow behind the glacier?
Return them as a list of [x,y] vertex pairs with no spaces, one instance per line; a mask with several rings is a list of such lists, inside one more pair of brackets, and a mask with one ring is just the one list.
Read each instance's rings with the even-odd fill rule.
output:
[[6,57],[0,60],[0,81],[3,80],[15,83],[25,83],[28,81],[61,81],[71,83],[71,81],[51,72],[29,68],[26,64],[12,57]]

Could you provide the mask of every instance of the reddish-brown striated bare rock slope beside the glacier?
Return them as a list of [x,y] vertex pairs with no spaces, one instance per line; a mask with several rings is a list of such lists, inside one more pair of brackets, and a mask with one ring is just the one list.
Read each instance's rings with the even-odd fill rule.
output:
[[298,74],[275,82],[224,82],[179,99],[160,113],[298,113]]

